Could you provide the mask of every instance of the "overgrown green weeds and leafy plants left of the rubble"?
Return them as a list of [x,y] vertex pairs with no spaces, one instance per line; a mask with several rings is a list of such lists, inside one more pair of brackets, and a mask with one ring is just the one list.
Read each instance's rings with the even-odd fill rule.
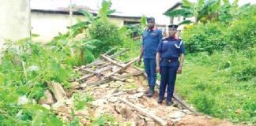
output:
[[[70,88],[70,81],[79,74],[73,71],[73,66],[85,65],[114,46],[110,42],[119,37],[119,31],[107,21],[107,15],[113,12],[111,2],[104,1],[102,6],[97,17],[80,10],[89,20],[73,25],[68,33],[58,35],[47,46],[33,43],[31,39],[6,43],[6,48],[1,50],[0,63],[0,125],[79,125],[79,118],[74,112],[88,106],[92,96],[73,94],[75,106],[71,108],[71,119],[68,121],[56,117],[55,110],[45,109],[37,102],[48,88],[47,83],[57,82]],[[101,25],[104,27],[94,28],[103,23],[100,22],[102,20],[106,21]],[[88,28],[92,28],[94,33],[103,31],[105,36],[102,41],[96,35],[89,35]],[[116,31],[110,32],[111,28]],[[101,45],[96,43],[104,43],[104,39],[109,39],[105,45],[107,48],[98,52]],[[117,43],[121,43],[122,39],[116,40],[115,45],[120,46]],[[115,122],[111,116],[103,115],[99,120],[102,119],[104,124]],[[98,120],[92,117],[92,125],[96,124],[94,121]]]

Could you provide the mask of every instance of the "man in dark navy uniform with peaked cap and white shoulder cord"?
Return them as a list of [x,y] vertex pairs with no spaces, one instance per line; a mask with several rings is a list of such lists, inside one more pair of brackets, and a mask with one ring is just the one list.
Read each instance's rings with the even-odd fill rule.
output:
[[171,106],[171,98],[175,88],[177,73],[183,69],[184,46],[182,39],[175,37],[178,25],[168,25],[168,37],[162,39],[156,54],[156,72],[160,72],[160,91],[158,103],[164,101],[167,87],[167,106]]

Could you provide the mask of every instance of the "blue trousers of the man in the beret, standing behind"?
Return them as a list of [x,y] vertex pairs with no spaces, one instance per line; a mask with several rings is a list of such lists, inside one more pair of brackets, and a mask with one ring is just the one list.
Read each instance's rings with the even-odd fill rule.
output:
[[156,58],[144,58],[145,72],[148,76],[149,87],[156,85]]

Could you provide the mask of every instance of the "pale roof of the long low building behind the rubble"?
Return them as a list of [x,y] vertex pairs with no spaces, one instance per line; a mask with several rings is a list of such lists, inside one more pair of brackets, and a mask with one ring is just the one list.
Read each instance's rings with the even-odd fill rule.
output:
[[[86,3],[85,3],[85,5],[86,5]],[[79,13],[77,11],[78,9],[84,9],[94,15],[96,15],[100,10],[100,9],[97,9],[95,6],[94,6],[94,9],[92,9],[89,6],[84,6],[84,5],[74,6],[73,5],[73,14],[74,15],[82,15],[82,13]],[[42,5],[39,5],[38,3],[37,4],[32,3],[31,11],[32,12],[41,12],[41,13],[62,13],[62,14],[70,13],[69,5],[67,5],[67,4],[61,5],[58,3],[56,4],[56,2],[54,2],[54,1],[44,1]],[[142,17],[142,15],[139,13],[134,14],[134,13],[123,13],[123,12],[115,11],[114,13],[110,14],[110,17],[130,17],[130,18],[140,19]]]

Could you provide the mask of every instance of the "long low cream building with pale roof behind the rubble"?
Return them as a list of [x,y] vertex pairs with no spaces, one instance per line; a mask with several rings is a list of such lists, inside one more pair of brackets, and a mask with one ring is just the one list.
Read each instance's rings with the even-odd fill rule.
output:
[[[86,20],[82,13],[77,12],[78,9],[86,10],[93,15],[96,15],[99,11],[88,6],[73,6],[72,24],[76,24],[77,20]],[[111,13],[109,19],[122,27],[124,24],[139,24],[141,15],[115,12]],[[35,40],[43,43],[49,42],[58,33],[68,31],[67,27],[70,26],[69,6],[55,6],[55,8],[31,6],[31,24],[32,34],[40,35]]]

